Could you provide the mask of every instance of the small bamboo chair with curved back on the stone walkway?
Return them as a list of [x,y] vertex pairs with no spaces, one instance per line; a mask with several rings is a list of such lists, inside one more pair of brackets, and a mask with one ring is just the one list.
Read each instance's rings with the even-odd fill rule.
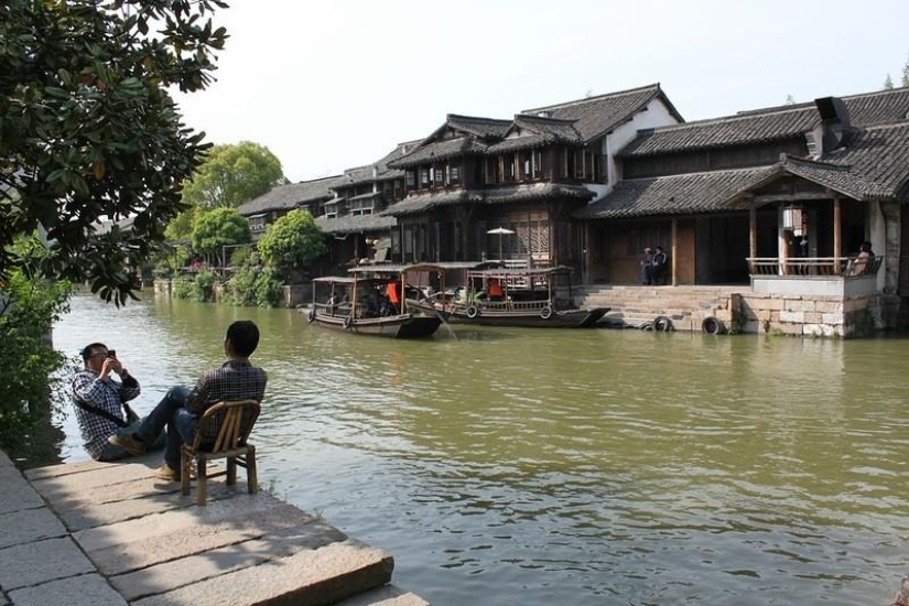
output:
[[[215,415],[223,415],[218,436],[210,448],[203,448],[205,428],[217,422]],[[256,446],[247,439],[259,418],[259,402],[256,400],[239,400],[236,402],[218,402],[210,407],[198,420],[198,428],[192,444],[184,444],[180,457],[180,477],[183,484],[183,494],[190,494],[190,479],[196,479],[198,487],[196,502],[205,505],[207,497],[206,481],[208,478],[227,476],[227,484],[237,483],[237,465],[246,468],[249,493],[259,489],[256,475]],[[207,446],[207,444],[205,444]],[[226,458],[227,468],[208,474],[209,461]],[[193,465],[195,463],[195,466]],[[195,469],[194,469],[195,467]]]

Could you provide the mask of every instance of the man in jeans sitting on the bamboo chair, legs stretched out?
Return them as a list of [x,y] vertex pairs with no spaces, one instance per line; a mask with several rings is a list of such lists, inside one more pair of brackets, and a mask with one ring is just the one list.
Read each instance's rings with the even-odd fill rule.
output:
[[[259,328],[252,321],[240,320],[227,328],[224,353],[227,361],[220,368],[203,372],[196,386],[172,387],[154,410],[142,421],[131,435],[111,435],[111,444],[132,454],[142,454],[154,436],[167,426],[167,442],[164,450],[164,465],[155,472],[161,479],[180,479],[180,450],[184,443],[192,443],[198,426],[198,418],[213,404],[220,401],[262,401],[268,375],[252,366],[249,357],[259,345]],[[214,443],[218,436],[220,421],[216,419],[206,428],[203,440]]]

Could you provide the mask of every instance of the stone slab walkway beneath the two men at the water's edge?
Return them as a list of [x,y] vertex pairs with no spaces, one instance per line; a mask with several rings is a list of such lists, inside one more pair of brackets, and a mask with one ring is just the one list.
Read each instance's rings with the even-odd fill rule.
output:
[[198,507],[160,456],[23,476],[0,452],[0,606],[428,606],[387,552],[239,481]]

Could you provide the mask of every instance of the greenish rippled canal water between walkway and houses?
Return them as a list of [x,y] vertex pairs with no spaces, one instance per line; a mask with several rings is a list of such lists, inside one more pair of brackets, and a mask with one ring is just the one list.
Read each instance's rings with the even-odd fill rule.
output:
[[[149,295],[151,296],[151,295]],[[441,328],[73,300],[55,345],[117,349],[140,411],[252,318],[260,478],[390,551],[437,606],[888,604],[907,572],[902,339]],[[75,418],[61,456],[85,459]]]

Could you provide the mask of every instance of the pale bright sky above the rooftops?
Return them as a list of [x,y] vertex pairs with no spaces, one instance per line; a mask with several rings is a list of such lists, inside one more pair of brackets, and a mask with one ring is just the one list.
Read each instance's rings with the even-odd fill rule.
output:
[[867,93],[909,59],[907,0],[228,0],[217,82],[175,95],[292,182],[371,164],[447,113],[660,83],[685,118]]

